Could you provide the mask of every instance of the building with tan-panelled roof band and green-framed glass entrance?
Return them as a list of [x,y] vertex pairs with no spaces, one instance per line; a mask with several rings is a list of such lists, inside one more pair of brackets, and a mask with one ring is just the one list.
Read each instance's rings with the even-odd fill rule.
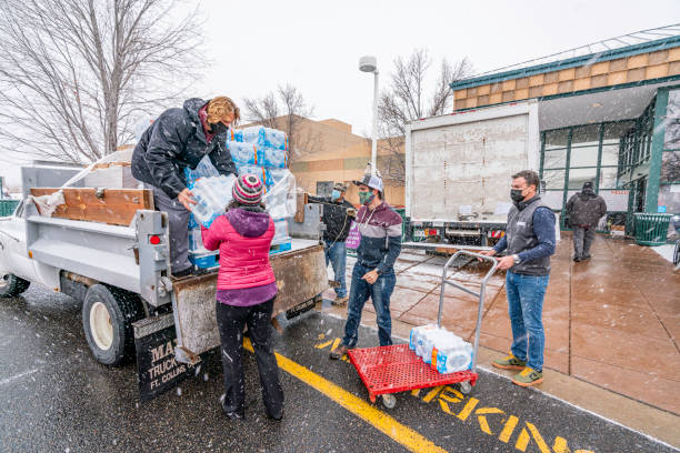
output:
[[454,110],[538,100],[544,200],[562,211],[592,181],[609,209],[600,228],[630,231],[634,212],[680,213],[679,34],[648,30],[457,81]]

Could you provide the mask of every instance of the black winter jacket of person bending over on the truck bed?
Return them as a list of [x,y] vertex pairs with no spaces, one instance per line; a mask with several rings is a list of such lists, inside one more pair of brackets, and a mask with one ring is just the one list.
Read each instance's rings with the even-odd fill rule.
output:
[[132,175],[168,194],[171,199],[187,188],[184,168],[196,169],[208,154],[220,174],[237,174],[231,153],[224,147],[227,133],[208,143],[199,110],[208,101],[193,98],[183,109],[168,109],[139,139],[132,153]]

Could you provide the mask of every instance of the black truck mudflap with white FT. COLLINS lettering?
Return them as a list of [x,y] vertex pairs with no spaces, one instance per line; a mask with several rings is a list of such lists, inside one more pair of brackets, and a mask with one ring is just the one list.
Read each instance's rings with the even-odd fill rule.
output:
[[[196,363],[178,362],[173,354],[177,345],[172,313],[147,318],[132,324],[139,395],[142,402],[172,389],[196,374]],[[200,360],[200,359],[199,359]]]

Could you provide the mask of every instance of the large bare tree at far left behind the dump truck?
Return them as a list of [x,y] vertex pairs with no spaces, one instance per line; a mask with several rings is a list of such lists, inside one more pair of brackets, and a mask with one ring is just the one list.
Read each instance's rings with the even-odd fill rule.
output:
[[82,162],[130,140],[136,119],[177,100],[201,66],[198,11],[172,19],[182,8],[0,0],[0,150]]

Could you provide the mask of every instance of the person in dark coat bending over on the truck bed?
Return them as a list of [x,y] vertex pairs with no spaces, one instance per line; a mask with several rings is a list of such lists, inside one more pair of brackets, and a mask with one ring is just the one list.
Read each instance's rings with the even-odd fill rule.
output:
[[168,109],[141,135],[132,153],[132,175],[153,191],[156,209],[168,213],[172,275],[191,273],[189,215],[196,204],[184,168],[196,169],[206,155],[220,174],[237,174],[226,148],[227,130],[240,118],[227,97],[193,98],[182,109]]

